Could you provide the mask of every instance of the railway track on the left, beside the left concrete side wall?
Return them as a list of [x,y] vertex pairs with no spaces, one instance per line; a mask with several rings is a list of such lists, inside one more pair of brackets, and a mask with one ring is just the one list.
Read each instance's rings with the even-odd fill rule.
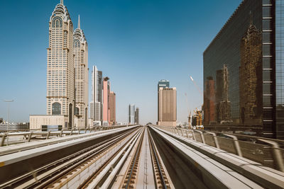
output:
[[133,130],[106,139],[91,147],[77,151],[70,156],[55,160],[50,164],[41,166],[18,178],[1,184],[0,188],[50,188],[50,185],[58,181],[59,178],[66,178],[66,175],[70,175],[70,172],[78,170],[86,162],[92,162],[92,159],[114,148],[119,142],[131,136],[131,134],[133,134]]

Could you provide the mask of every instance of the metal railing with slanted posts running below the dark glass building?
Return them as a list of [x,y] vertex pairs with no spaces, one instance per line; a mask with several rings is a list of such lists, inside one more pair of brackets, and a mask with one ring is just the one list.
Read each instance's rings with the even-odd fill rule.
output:
[[246,140],[244,136],[238,136],[237,134],[187,130],[179,127],[153,126],[284,172],[284,149],[281,148],[284,141],[282,140],[266,139],[263,137],[247,137]]

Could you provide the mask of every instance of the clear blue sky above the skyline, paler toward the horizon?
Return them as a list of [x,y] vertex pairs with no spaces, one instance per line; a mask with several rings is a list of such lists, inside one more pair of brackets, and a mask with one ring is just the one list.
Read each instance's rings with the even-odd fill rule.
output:
[[[60,0],[0,0],[0,118],[26,122],[46,110],[48,21]],[[200,108],[202,53],[241,0],[65,0],[72,22],[89,45],[91,68],[109,76],[116,93],[116,120],[126,122],[128,105],[140,108],[142,123],[157,121],[157,84],[168,79],[178,92],[178,121]],[[90,94],[89,86],[89,94]],[[90,99],[90,95],[89,95]]]

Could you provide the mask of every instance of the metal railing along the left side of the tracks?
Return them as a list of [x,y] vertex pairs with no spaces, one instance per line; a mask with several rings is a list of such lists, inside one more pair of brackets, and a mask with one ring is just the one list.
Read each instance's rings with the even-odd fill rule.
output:
[[[109,125],[109,126],[94,126],[94,127],[72,127],[70,129],[62,128],[62,130],[18,130],[0,133],[0,147],[8,146],[9,144],[18,144],[24,142],[31,142],[31,139],[49,139],[50,137],[62,137],[74,134],[92,133],[101,130],[113,130],[121,127],[128,127],[131,125]],[[21,137],[22,136],[22,137]],[[12,137],[21,137],[22,139],[10,141]],[[38,138],[37,138],[38,137]]]

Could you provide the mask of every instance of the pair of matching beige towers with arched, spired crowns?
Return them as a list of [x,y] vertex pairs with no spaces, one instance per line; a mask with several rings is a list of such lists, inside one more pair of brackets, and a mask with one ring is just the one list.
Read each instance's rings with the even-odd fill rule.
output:
[[86,127],[88,45],[80,16],[74,30],[62,0],[50,16],[47,50],[47,115],[64,115],[62,127]]

